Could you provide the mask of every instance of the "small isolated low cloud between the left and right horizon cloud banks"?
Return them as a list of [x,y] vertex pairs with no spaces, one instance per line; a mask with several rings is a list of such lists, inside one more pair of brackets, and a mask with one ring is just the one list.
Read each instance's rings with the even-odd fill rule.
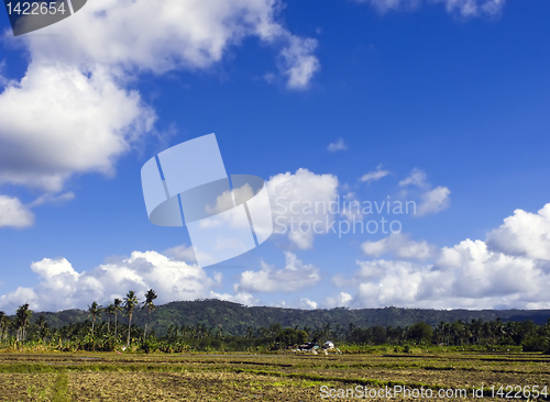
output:
[[311,264],[305,265],[295,254],[285,252],[286,264],[283,269],[261,261],[260,271],[241,273],[238,292],[295,292],[319,282],[319,269]]

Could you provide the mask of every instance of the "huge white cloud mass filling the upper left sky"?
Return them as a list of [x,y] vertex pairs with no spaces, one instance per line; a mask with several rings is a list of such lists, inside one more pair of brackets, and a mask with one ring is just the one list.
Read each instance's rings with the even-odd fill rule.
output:
[[75,174],[112,174],[154,131],[155,112],[129,82],[207,69],[249,36],[279,49],[288,88],[307,88],[317,42],[286,30],[279,10],[277,0],[158,0],[152,13],[146,0],[97,0],[44,35],[8,36],[30,65],[20,82],[0,79],[0,185],[57,192]]

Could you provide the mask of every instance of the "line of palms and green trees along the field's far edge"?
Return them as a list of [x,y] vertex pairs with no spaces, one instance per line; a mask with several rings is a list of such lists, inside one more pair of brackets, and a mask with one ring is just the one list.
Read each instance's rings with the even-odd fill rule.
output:
[[[317,326],[283,327],[275,323],[268,326],[246,327],[244,334],[229,334],[219,325],[208,323],[178,325],[173,323],[165,334],[157,336],[150,327],[150,315],[156,309],[157,294],[150,289],[140,302],[134,291],[125,298],[114,299],[106,306],[94,301],[88,305],[87,320],[61,327],[51,327],[44,315],[31,325],[33,311],[29,303],[22,304],[13,317],[0,311],[0,347],[30,347],[58,350],[161,350],[166,353],[190,350],[277,350],[296,347],[307,342],[322,344],[332,340],[339,345],[370,347],[391,345],[492,349],[514,347],[524,351],[550,353],[550,320],[538,325],[532,321],[458,320],[441,321],[431,326],[418,322],[410,326],[346,326],[320,323]],[[136,309],[145,313],[143,326],[132,322]],[[125,317],[121,324],[120,316]]]

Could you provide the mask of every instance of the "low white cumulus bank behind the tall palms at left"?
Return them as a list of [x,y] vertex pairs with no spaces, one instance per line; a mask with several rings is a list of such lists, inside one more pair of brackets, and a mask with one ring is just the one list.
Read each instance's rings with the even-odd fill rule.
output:
[[221,273],[210,277],[196,265],[156,252],[133,252],[129,258],[82,272],[65,258],[44,258],[33,263],[31,269],[40,278],[38,284],[0,297],[2,310],[13,312],[26,302],[33,310],[84,309],[94,300],[106,304],[123,298],[128,290],[142,295],[148,289],[157,291],[160,303],[195,300],[210,297],[222,280]]

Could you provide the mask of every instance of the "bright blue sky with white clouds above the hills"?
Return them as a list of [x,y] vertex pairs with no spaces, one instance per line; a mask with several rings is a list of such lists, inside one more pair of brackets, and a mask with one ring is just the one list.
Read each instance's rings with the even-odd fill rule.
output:
[[[547,1],[148,4],[96,0],[18,38],[0,18],[1,310],[148,288],[161,302],[550,308]],[[148,222],[140,169],[209,133],[272,202],[389,197],[420,213],[386,216],[393,235],[274,234],[199,268],[185,230]]]

